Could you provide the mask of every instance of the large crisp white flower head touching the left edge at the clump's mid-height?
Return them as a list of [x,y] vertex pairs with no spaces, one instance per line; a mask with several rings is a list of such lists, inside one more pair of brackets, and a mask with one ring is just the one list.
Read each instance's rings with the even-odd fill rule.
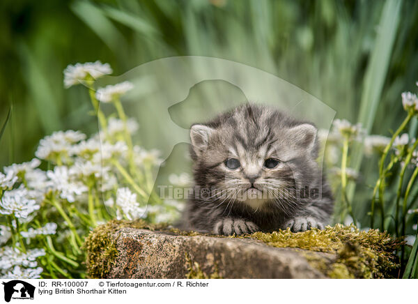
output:
[[4,192],[0,200],[0,214],[14,214],[16,218],[27,218],[38,209],[39,205],[34,199],[28,198],[28,190],[24,188]]

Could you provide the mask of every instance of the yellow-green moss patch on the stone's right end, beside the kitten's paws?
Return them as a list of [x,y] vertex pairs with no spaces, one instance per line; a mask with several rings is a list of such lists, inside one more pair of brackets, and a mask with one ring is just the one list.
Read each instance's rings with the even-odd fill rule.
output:
[[392,278],[399,266],[394,251],[403,243],[376,229],[359,231],[353,225],[299,233],[290,229],[256,232],[245,237],[256,238],[273,247],[335,253],[336,260],[331,264],[326,264],[320,257],[308,259],[312,266],[330,278]]

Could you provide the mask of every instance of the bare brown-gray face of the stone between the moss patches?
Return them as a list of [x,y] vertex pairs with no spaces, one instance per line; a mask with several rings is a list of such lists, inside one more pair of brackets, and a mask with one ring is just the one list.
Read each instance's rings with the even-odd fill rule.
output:
[[334,254],[274,248],[260,241],[180,236],[123,227],[111,234],[118,256],[107,278],[325,278],[307,257]]

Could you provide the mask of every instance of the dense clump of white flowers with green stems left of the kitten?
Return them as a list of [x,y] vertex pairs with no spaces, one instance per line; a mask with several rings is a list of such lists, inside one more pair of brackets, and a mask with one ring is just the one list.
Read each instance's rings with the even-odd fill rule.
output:
[[[111,71],[100,61],[77,63],[65,69],[64,84],[88,82],[91,89],[95,79]],[[90,137],[75,130],[54,132],[40,140],[36,158],[0,172],[0,278],[79,276],[82,238],[99,223],[178,217],[181,202],[154,195],[148,203],[153,191],[148,179],[162,159],[159,151],[132,144],[139,125],[125,116],[119,100],[132,88],[123,82],[91,96],[93,106],[95,98],[112,101],[118,115],[98,113],[105,127],[100,132]],[[178,182],[186,179],[181,175]]]

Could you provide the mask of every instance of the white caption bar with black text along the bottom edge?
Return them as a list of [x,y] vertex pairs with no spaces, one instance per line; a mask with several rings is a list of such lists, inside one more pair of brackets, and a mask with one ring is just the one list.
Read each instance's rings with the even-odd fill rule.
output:
[[[416,280],[0,280],[0,303],[398,303]],[[405,292],[394,292],[403,290]],[[6,302],[5,302],[6,301]],[[153,302],[150,302],[153,301]],[[91,302],[94,303],[94,302]],[[123,302],[120,302],[123,303]]]

